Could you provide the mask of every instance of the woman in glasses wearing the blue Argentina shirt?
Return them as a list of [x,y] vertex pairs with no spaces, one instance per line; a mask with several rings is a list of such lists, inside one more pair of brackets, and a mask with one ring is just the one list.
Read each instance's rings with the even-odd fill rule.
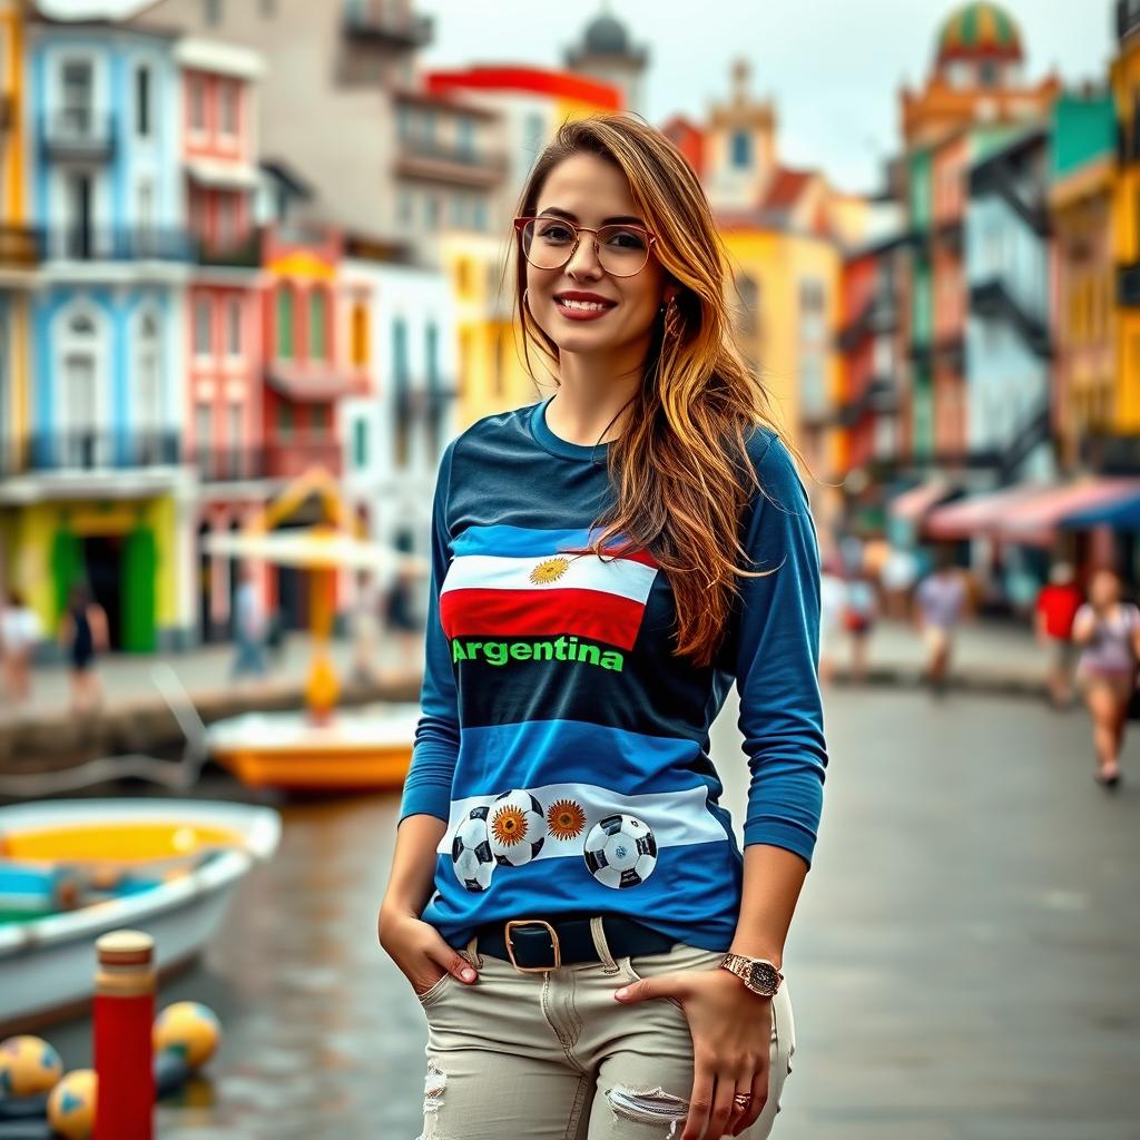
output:
[[[807,497],[661,133],[564,124],[519,213],[527,358],[555,391],[443,455],[380,911],[426,1010],[423,1135],[766,1137],[826,765]],[[709,758],[733,681],[743,853]]]

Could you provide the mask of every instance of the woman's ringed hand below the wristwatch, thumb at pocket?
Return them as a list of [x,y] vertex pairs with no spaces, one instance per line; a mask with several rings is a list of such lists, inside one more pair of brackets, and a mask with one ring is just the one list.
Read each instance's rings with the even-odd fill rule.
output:
[[[642,978],[614,993],[620,1002],[675,997],[693,1037],[693,1092],[681,1140],[720,1140],[755,1123],[768,1098],[772,999],[728,970],[684,970]],[[734,1097],[751,1099],[741,1108]]]

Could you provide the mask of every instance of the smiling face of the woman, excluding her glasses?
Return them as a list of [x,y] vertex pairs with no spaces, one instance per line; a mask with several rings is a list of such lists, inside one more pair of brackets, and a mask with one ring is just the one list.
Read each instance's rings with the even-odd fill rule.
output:
[[[592,229],[616,220],[649,228],[625,174],[594,154],[576,154],[560,162],[543,184],[532,212]],[[572,245],[571,233],[553,235],[553,239],[567,238]],[[613,239],[628,247],[630,235],[614,235]],[[651,245],[640,271],[630,277],[614,276],[602,267],[594,243],[595,235],[584,233],[573,256],[561,269],[539,269],[528,261],[527,306],[560,352],[625,356],[636,350],[644,357],[658,309],[668,299],[665,270]],[[573,306],[573,294],[578,294],[579,307]]]

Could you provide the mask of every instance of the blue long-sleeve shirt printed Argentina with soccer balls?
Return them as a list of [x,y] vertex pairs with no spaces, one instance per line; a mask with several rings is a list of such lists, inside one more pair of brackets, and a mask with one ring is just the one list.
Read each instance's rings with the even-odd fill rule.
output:
[[[788,450],[757,427],[740,522],[749,570],[709,666],[677,657],[652,554],[608,540],[606,447],[556,437],[547,401],[446,449],[432,521],[422,716],[400,819],[446,821],[423,912],[450,945],[487,922],[625,914],[726,950],[743,856],[709,756],[735,679],[751,772],[744,845],[811,865],[828,763],[820,565]],[[587,553],[583,553],[587,552]]]

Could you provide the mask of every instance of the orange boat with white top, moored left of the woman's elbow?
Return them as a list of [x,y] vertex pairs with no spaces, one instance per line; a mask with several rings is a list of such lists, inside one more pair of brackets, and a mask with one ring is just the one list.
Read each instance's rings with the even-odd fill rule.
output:
[[368,791],[401,788],[420,706],[366,705],[314,720],[307,711],[245,712],[206,728],[213,758],[250,788]]

